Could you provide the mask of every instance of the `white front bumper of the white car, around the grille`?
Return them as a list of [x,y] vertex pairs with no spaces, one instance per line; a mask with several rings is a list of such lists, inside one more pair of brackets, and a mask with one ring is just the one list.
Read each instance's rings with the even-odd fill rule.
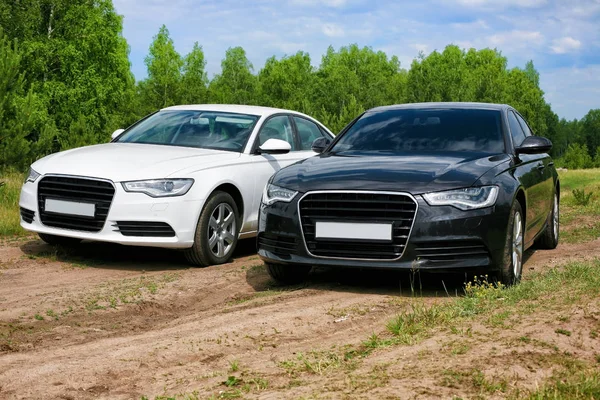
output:
[[[21,226],[28,231],[132,246],[189,248],[194,243],[196,222],[204,199],[188,198],[189,194],[152,198],[143,193],[125,192],[120,184],[115,183],[115,194],[104,226],[99,232],[86,232],[50,227],[41,222],[37,196],[39,182],[40,178],[34,183],[25,183],[21,189],[19,206],[26,210],[25,218],[22,212]],[[29,218],[30,212],[34,212],[33,219]],[[175,231],[175,236],[125,236],[115,227],[117,221],[167,223]]]

